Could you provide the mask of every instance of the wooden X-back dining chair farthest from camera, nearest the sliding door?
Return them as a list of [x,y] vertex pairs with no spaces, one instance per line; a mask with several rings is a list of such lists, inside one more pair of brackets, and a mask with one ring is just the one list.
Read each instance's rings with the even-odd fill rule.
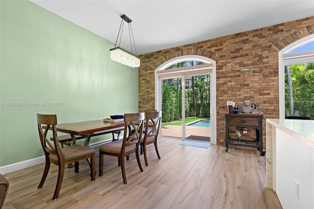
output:
[[157,148],[157,138],[158,138],[158,132],[161,125],[161,113],[162,111],[154,111],[154,112],[145,112],[145,128],[144,128],[144,134],[141,137],[140,141],[140,148],[141,148],[141,154],[143,154],[144,151],[144,159],[145,159],[145,165],[148,166],[148,160],[147,160],[147,151],[146,146],[149,144],[155,145],[155,150],[157,153],[158,159],[160,159],[158,148]]

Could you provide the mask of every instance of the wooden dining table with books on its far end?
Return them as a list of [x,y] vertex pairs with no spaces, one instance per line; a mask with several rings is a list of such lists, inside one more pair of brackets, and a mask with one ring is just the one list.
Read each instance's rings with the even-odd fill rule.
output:
[[[121,122],[104,122],[104,120],[83,121],[74,123],[57,124],[56,129],[59,132],[69,133],[72,137],[73,144],[76,144],[76,135],[85,136],[85,146],[89,146],[92,136],[124,131],[125,123]],[[131,132],[129,126],[129,131]]]

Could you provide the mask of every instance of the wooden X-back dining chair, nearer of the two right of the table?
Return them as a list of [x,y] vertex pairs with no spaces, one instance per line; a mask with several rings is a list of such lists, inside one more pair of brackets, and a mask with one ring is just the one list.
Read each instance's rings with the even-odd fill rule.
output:
[[[132,113],[124,115],[124,135],[123,140],[116,140],[99,147],[99,176],[103,176],[104,155],[115,156],[120,159],[123,183],[127,184],[125,172],[124,158],[132,153],[136,154],[137,164],[140,171],[143,172],[141,162],[139,160],[139,142],[143,132],[145,115],[144,112]],[[128,126],[135,131],[128,133]]]

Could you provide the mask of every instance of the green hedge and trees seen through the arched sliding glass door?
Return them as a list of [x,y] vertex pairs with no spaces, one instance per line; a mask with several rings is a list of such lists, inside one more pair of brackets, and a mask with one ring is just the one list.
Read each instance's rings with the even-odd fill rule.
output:
[[[205,64],[198,61],[181,62],[168,69]],[[209,118],[209,75],[186,77],[185,117]],[[180,120],[182,118],[182,79],[165,79],[162,84],[162,122]]]

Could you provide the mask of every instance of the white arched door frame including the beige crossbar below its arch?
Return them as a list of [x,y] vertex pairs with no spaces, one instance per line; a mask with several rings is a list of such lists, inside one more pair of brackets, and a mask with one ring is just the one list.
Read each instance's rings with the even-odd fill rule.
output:
[[[166,72],[165,69],[167,69],[169,66],[180,63],[183,61],[191,61],[196,60],[200,62],[207,63],[206,66],[199,66],[192,69],[183,69],[183,70],[175,70],[175,71],[168,71]],[[185,76],[189,75],[204,75],[209,74],[210,75],[210,143],[216,144],[217,143],[217,129],[216,129],[216,62],[208,57],[199,56],[199,55],[185,55],[185,56],[179,56],[175,57],[173,59],[170,59],[163,64],[161,64],[157,69],[155,70],[155,106],[158,110],[162,110],[161,102],[162,102],[162,94],[161,94],[161,79],[165,78],[165,75],[170,78],[171,76],[175,77],[181,77],[183,79],[183,87],[184,87],[184,79]],[[184,110],[184,93],[182,94],[182,101],[183,101],[183,108]],[[183,124],[184,124],[184,116],[185,112],[182,111],[183,115]],[[182,137],[185,139],[185,128],[183,126],[183,133]]]

